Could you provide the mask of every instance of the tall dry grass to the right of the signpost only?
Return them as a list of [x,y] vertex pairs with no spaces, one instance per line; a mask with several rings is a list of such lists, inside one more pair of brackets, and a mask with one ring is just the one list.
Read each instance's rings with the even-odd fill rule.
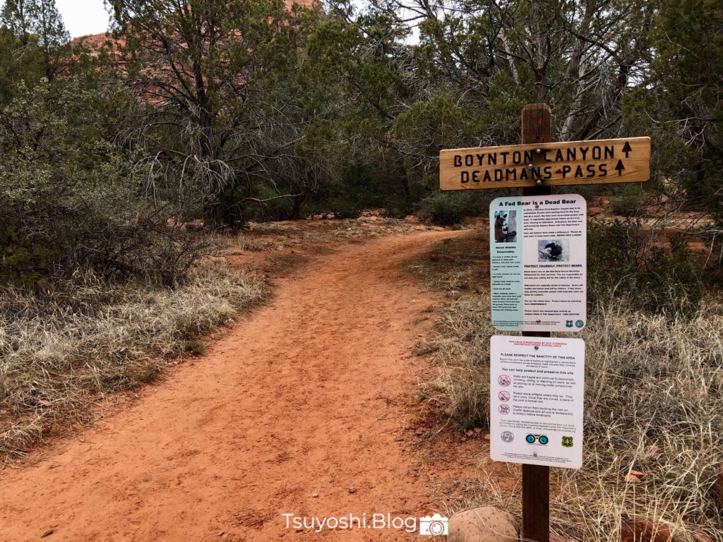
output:
[[[714,483],[723,465],[723,304],[693,319],[599,307],[586,341],[585,463],[561,470],[558,530],[617,541],[620,517],[665,522],[677,541],[696,530],[723,541]],[[635,468],[641,483],[625,483]]]

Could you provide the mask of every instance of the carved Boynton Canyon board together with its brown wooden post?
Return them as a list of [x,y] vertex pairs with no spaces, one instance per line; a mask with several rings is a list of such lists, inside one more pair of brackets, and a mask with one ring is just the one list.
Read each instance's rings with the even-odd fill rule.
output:
[[[550,120],[547,104],[530,104],[522,110],[523,145],[442,150],[440,189],[511,187],[523,196],[545,196],[555,185],[649,180],[649,137],[552,143]],[[522,539],[549,542],[549,467],[544,465],[522,465]]]

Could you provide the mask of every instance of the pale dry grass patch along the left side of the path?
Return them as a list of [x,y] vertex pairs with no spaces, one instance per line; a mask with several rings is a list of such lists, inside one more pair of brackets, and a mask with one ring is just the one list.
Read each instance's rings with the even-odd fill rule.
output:
[[109,286],[86,275],[36,295],[0,288],[0,457],[22,455],[59,422],[90,419],[105,392],[152,380],[166,360],[266,295],[218,264],[178,288]]

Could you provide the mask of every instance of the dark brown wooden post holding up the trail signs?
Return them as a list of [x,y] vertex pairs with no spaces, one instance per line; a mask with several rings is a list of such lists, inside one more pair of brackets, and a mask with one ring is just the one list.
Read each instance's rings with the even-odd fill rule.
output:
[[[531,103],[522,110],[522,143],[552,141],[547,103]],[[552,194],[551,186],[521,189],[523,196]],[[549,337],[549,332],[526,332],[526,337]],[[522,540],[549,542],[549,467],[522,465]]]

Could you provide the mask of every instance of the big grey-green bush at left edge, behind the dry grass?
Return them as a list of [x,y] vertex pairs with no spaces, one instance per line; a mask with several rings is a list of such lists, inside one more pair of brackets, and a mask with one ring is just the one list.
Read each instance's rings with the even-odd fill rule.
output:
[[103,95],[40,82],[0,110],[0,278],[30,283],[79,268],[170,284],[204,252],[150,207],[137,168],[103,134]]

